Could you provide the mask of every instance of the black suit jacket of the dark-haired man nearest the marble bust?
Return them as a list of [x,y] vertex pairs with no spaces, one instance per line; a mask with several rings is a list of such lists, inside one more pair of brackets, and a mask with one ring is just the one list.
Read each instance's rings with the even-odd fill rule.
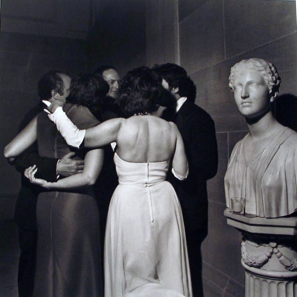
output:
[[216,175],[218,166],[214,121],[205,110],[188,99],[174,115],[165,110],[163,118],[177,125],[189,162],[189,176],[186,180],[176,179],[171,168],[167,180],[178,195],[186,232],[199,230],[205,237],[208,220],[206,180]]

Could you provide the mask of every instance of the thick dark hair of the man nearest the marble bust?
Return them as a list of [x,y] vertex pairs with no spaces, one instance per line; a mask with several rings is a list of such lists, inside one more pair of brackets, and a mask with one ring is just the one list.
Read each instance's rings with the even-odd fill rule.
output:
[[163,79],[165,79],[171,88],[178,88],[178,94],[181,97],[187,97],[188,100],[195,102],[196,86],[187,71],[176,64],[155,64],[152,68]]

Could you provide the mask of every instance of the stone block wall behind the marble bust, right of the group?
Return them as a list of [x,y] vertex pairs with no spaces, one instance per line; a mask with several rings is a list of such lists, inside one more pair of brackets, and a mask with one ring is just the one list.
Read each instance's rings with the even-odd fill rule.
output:
[[[228,76],[230,67],[241,59],[269,60],[283,80],[280,100],[290,94],[296,108],[296,4],[277,0],[147,0],[147,3],[149,20],[154,16],[146,28],[147,64],[180,61],[197,86],[195,103],[216,124],[219,169],[208,181],[209,231],[202,245],[205,297],[243,297],[241,234],[228,226],[223,216],[223,178],[231,151],[247,133],[247,126],[237,111]],[[173,31],[170,44],[164,38],[168,35],[166,28]],[[282,105],[280,100],[278,104]],[[296,125],[296,119],[292,121]]]

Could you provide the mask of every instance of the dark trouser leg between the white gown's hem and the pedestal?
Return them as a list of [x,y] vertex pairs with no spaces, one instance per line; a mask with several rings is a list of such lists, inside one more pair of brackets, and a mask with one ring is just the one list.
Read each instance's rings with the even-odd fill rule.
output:
[[200,230],[190,230],[186,234],[194,297],[203,297],[201,244],[205,236]]

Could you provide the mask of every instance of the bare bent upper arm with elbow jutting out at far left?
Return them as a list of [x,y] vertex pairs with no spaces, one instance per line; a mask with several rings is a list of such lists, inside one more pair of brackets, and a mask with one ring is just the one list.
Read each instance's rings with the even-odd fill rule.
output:
[[37,139],[37,116],[4,148],[4,157],[17,157]]

